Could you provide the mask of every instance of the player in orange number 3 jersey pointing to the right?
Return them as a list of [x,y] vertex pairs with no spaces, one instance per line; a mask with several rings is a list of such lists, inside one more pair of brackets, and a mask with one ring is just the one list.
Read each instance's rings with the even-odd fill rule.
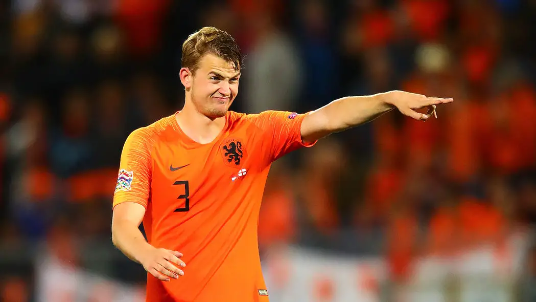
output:
[[[268,301],[257,221],[271,163],[394,107],[426,120],[452,102],[391,91],[307,114],[236,113],[228,111],[242,66],[234,39],[204,27],[182,50],[184,107],[130,134],[114,193],[112,239],[147,270],[147,301]],[[414,111],[422,107],[427,114]]]

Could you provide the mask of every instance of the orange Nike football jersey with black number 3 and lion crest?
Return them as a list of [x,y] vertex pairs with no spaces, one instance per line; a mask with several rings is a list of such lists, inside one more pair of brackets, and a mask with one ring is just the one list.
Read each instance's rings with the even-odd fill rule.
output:
[[180,251],[187,263],[184,276],[169,282],[148,275],[146,301],[268,301],[257,245],[260,202],[271,163],[306,146],[304,116],[229,111],[207,144],[185,135],[175,115],[130,134],[114,206],[145,206],[148,242]]

